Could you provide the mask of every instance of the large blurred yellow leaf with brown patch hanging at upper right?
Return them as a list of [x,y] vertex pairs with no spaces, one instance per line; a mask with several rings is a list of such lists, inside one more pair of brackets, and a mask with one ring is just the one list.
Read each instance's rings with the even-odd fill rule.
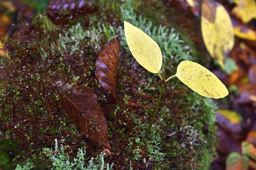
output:
[[224,6],[214,0],[203,0],[201,31],[207,51],[224,68],[224,60],[234,46],[230,16]]

